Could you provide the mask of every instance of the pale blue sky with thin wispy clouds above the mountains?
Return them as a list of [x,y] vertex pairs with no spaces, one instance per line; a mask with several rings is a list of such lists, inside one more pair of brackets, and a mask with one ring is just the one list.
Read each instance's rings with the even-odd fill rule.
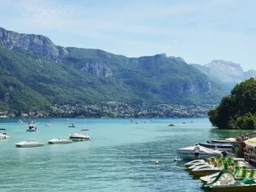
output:
[[0,26],[65,47],[256,69],[254,0],[0,0]]

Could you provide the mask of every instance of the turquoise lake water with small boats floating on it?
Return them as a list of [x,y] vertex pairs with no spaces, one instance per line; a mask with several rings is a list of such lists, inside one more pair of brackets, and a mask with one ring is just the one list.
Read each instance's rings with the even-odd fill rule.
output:
[[[237,131],[213,129],[208,119],[37,119],[38,131],[27,132],[26,122],[0,119],[11,137],[0,141],[0,191],[202,191],[201,182],[174,159],[176,149],[213,138],[234,137]],[[147,122],[147,124],[144,124]],[[45,126],[50,123],[52,126]],[[167,126],[175,124],[175,127]],[[89,129],[89,142],[49,145]],[[41,148],[16,148],[29,138],[42,139]],[[155,165],[159,160],[160,164]]]

